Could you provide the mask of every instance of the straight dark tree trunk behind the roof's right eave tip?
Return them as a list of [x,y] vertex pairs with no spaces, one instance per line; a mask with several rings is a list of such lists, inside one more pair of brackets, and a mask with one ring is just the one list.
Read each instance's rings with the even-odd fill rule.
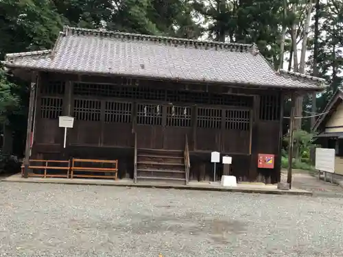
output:
[[[314,76],[318,77],[318,53],[319,53],[319,12],[320,12],[320,0],[316,0],[316,15],[314,17]],[[312,115],[317,112],[317,93],[312,94]],[[316,117],[311,117],[311,128],[316,123]]]

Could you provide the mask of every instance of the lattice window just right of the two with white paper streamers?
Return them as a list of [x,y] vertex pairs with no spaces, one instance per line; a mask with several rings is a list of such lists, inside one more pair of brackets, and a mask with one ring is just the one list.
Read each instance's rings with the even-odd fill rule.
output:
[[215,108],[198,108],[198,127],[220,128],[222,110]]

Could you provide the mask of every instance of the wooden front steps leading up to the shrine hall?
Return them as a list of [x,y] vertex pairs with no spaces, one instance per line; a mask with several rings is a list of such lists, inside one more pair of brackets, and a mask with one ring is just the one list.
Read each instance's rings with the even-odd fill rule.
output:
[[137,180],[186,184],[183,151],[137,149]]

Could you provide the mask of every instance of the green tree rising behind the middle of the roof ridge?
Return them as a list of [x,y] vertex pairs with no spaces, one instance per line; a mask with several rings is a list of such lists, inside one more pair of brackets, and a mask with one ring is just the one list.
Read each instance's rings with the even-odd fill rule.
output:
[[194,21],[189,0],[115,1],[107,28],[156,36],[198,38],[202,30]]

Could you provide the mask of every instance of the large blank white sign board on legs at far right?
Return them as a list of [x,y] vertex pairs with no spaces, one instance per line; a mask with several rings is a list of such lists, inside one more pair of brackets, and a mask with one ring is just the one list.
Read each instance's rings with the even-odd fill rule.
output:
[[316,148],[316,169],[335,172],[335,149]]

